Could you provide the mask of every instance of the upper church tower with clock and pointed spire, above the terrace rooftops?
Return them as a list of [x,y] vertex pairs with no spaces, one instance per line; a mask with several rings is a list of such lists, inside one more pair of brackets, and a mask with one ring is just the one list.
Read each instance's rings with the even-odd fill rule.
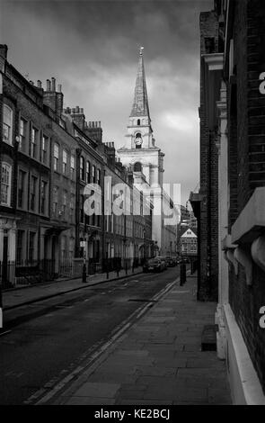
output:
[[128,118],[126,143],[118,149],[120,161],[134,172],[136,184],[163,185],[163,152],[155,146],[146,89],[143,47],[140,48],[137,81]]

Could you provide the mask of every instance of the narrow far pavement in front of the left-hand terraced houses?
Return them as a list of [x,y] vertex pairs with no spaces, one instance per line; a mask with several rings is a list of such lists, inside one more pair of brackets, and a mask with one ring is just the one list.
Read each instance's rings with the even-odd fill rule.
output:
[[89,275],[86,278],[85,284],[82,282],[82,278],[75,278],[57,280],[48,284],[26,285],[24,287],[13,288],[12,290],[6,290],[3,292],[4,310],[11,310],[21,307],[22,305],[31,304],[32,302],[56,297],[57,295],[61,295],[63,293],[71,293],[93,284],[102,284],[104,282],[123,279],[139,273],[142,273],[141,266],[136,268],[134,273],[132,273],[131,270],[128,270],[128,273],[126,274],[125,270],[121,270],[119,271],[119,276],[117,272],[110,272],[108,279],[106,274]]

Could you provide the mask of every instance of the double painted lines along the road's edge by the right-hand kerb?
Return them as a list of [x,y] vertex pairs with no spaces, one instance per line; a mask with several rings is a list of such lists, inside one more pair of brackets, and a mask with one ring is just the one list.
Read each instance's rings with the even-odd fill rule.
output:
[[[156,293],[153,297],[153,301],[158,302],[166,293],[168,293],[172,289],[173,286],[175,286],[179,279],[180,278],[178,277],[177,279],[172,281],[172,283],[168,284],[165,288],[163,288],[163,290],[161,290],[159,293]],[[148,309],[153,306],[154,302],[138,307],[136,311],[134,311],[130,316],[128,316],[126,320],[120,323],[119,326],[111,332],[112,336],[110,336],[110,339],[108,341],[106,341],[102,345],[101,342],[98,342],[88,350],[88,353],[85,354],[85,356],[87,356],[90,351],[92,352],[92,355],[88,357],[88,363],[86,363],[85,365],[77,366],[73,372],[71,372],[64,379],[58,382],[57,385],[55,385],[49,392],[47,392],[47,390],[50,389],[50,382],[48,382],[46,384],[48,388],[45,389],[46,385],[44,385],[44,388],[41,388],[39,391],[35,392],[33,395],[31,395],[28,400],[23,401],[23,403],[28,405],[32,404],[33,402],[36,405],[45,404],[59,391],[65,388],[67,383],[73,381],[75,377],[77,377],[81,373],[84,373],[85,370],[89,370],[89,373],[93,373],[94,370],[99,365],[101,365],[102,361],[104,361],[104,359],[106,359],[110,355],[110,352],[116,348],[117,343],[126,337],[127,334],[125,332],[130,327],[132,327]],[[42,398],[40,398],[41,396]]]

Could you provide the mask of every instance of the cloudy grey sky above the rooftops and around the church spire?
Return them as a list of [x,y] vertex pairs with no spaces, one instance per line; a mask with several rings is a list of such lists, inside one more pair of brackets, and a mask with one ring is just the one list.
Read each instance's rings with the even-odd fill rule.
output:
[[[1,2],[1,0],[0,0]],[[34,82],[55,76],[65,107],[102,121],[104,141],[124,144],[144,46],[146,85],[164,182],[185,203],[199,182],[199,12],[213,0],[2,0],[8,60]]]

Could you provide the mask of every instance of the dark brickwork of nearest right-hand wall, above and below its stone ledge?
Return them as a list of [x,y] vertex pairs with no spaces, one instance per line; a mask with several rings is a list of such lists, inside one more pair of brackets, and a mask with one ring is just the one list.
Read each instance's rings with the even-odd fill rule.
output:
[[[226,42],[234,42],[234,63],[231,56],[225,58],[233,72],[229,75],[227,65],[230,228],[255,188],[265,185],[265,95],[259,90],[259,76],[265,70],[264,19],[263,2],[235,0],[231,6]],[[246,250],[250,247],[243,244]],[[254,262],[252,285],[246,283],[242,265],[238,275],[230,266],[229,302],[265,392],[265,331],[259,326],[259,311],[265,304],[264,279]]]

